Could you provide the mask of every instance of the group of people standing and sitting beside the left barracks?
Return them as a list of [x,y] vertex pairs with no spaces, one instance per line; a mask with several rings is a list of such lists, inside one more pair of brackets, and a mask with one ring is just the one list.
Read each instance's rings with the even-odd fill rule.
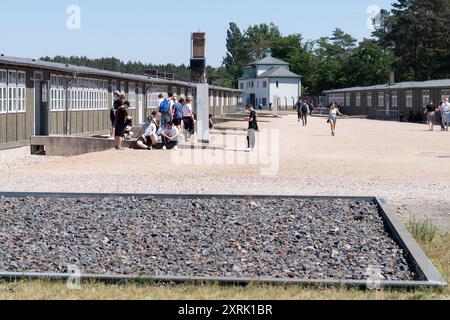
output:
[[[124,101],[125,96],[118,90],[113,94],[114,105],[110,112],[111,136],[115,138],[115,149],[123,150],[122,142],[133,118],[128,114],[130,103]],[[192,98],[179,99],[176,94],[169,92],[166,98],[160,94],[158,99],[158,111],[147,117],[140,130],[137,146],[146,150],[177,149],[180,135],[184,135],[185,140],[189,141],[194,133],[196,119],[192,112]]]

